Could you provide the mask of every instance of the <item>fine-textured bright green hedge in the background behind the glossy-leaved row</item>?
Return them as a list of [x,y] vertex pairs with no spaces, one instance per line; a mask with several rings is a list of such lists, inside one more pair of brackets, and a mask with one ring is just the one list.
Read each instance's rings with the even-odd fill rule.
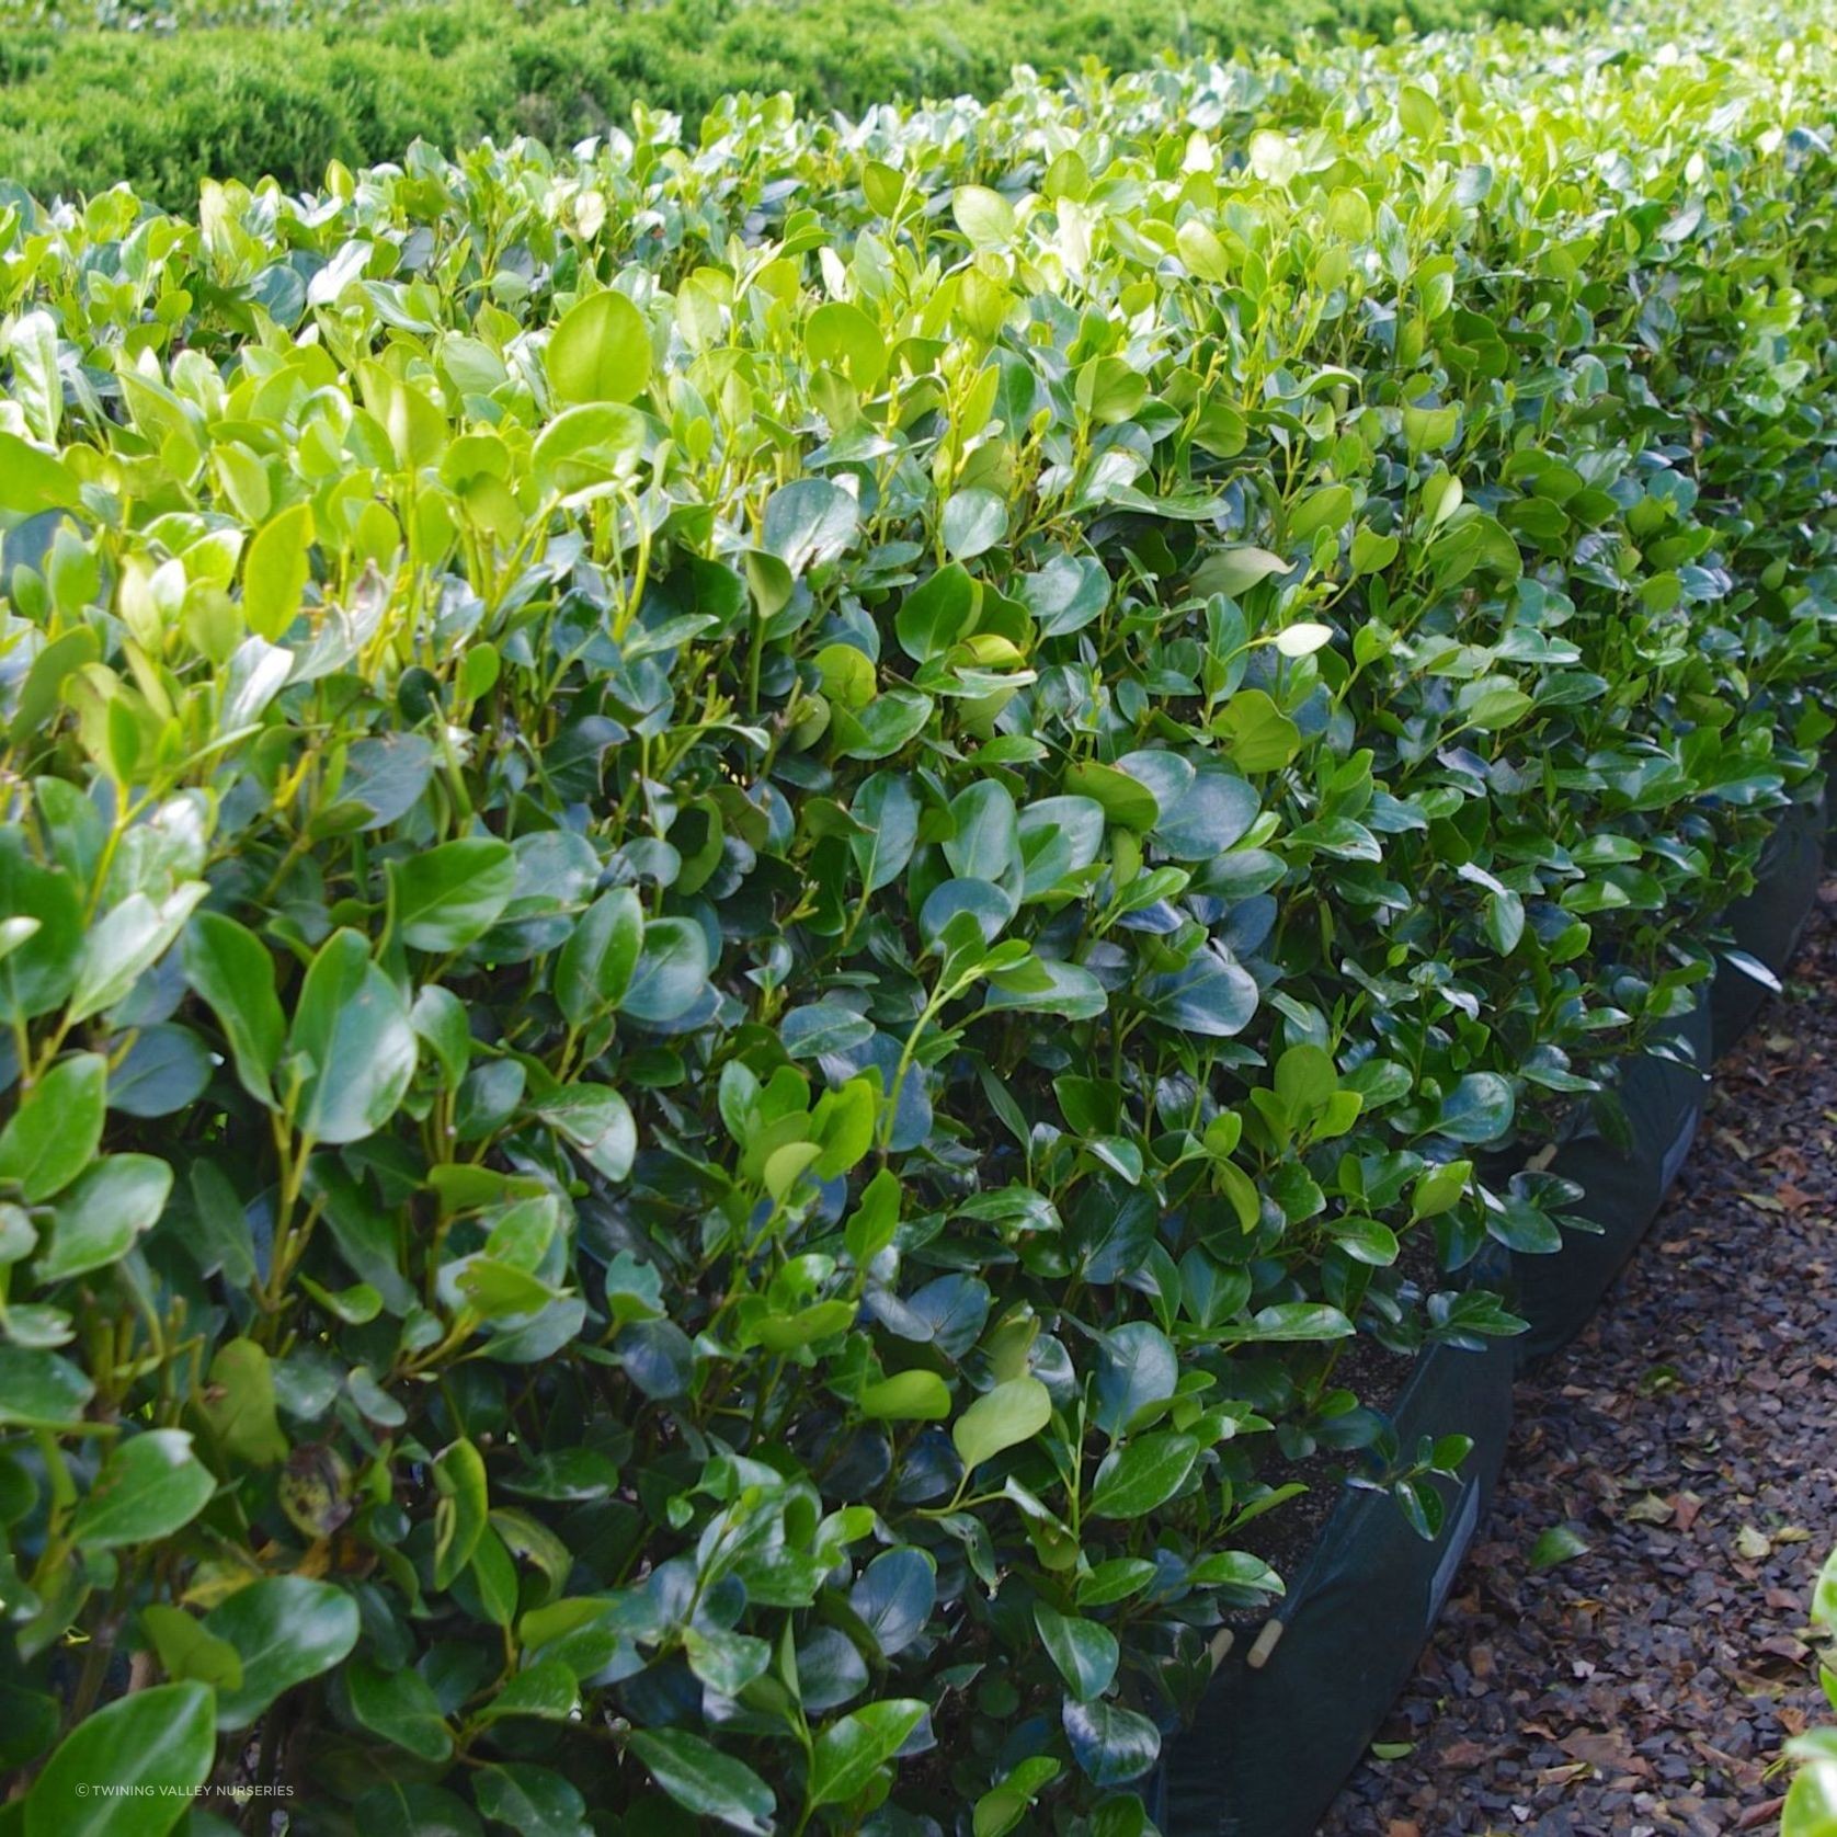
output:
[[[0,0],[0,20],[6,11]],[[571,145],[639,103],[691,125],[737,90],[860,114],[904,96],[994,96],[1016,62],[1051,72],[1097,59],[1132,70],[1170,50],[1293,46],[1308,31],[1389,31],[1400,17],[1448,26],[1470,15],[1464,0],[1196,0],[1179,9],[1150,0],[456,0],[325,7],[323,17],[184,7],[176,31],[127,33],[81,29],[81,7],[64,9],[66,29],[35,24],[33,11],[0,35],[0,175],[40,197],[127,182],[171,208],[191,208],[204,178],[318,186],[331,160],[397,160],[415,138],[446,149],[487,134]],[[1497,11],[1550,17],[1556,6],[1508,0]],[[112,6],[96,13],[171,18]],[[312,24],[288,26],[296,17]]]

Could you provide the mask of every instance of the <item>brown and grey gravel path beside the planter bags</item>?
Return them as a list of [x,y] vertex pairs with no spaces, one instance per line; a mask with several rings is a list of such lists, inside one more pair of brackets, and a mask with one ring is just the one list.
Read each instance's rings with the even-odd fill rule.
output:
[[[1323,1837],[1773,1830],[1837,1541],[1837,882],[1718,1067],[1677,1190],[1519,1381],[1490,1521]],[[1530,1567],[1538,1538],[1587,1545]],[[1826,1712],[1828,1714],[1828,1712]]]

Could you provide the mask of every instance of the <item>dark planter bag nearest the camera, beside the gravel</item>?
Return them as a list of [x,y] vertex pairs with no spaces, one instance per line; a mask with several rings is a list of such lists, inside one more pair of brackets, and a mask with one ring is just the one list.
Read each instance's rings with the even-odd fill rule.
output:
[[1347,1488],[1277,1604],[1225,1653],[1159,1787],[1166,1837],[1310,1837],[1427,1644],[1492,1497],[1512,1427],[1512,1343],[1431,1347],[1389,1411],[1403,1448],[1468,1435],[1440,1536],[1416,1536],[1389,1493]]

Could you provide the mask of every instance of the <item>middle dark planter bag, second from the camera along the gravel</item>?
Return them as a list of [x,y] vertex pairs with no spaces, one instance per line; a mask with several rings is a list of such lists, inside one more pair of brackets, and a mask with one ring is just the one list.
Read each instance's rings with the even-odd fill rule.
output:
[[1565,1231],[1560,1251],[1514,1255],[1512,1306],[1530,1323],[1512,1341],[1521,1363],[1567,1345],[1587,1324],[1659,1214],[1703,1119],[1710,1007],[1697,1001],[1674,1023],[1675,1042],[1690,1047],[1696,1064],[1646,1053],[1622,1062],[1618,1089],[1633,1133],[1626,1154],[1591,1126],[1552,1155],[1549,1170],[1582,1189],[1582,1198],[1563,1211],[1600,1229]]

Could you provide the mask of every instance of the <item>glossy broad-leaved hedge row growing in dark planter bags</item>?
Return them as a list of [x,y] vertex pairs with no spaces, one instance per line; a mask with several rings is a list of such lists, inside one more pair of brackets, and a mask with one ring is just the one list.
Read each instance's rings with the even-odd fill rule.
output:
[[0,213],[0,1831],[1128,1837],[1453,1549],[1833,724],[1833,51]]

